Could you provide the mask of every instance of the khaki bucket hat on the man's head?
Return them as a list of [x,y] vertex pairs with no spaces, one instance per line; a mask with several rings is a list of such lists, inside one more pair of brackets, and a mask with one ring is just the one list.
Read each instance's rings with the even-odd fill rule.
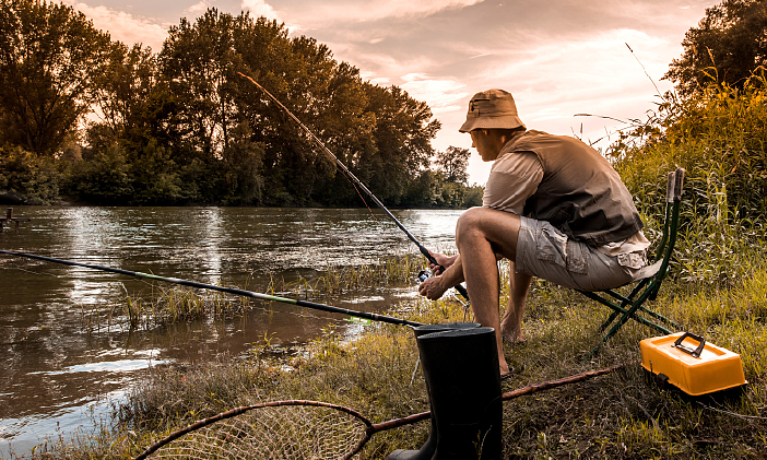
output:
[[469,102],[467,121],[459,129],[469,132],[474,129],[524,128],[517,114],[517,104],[511,93],[504,90],[487,90],[474,94]]

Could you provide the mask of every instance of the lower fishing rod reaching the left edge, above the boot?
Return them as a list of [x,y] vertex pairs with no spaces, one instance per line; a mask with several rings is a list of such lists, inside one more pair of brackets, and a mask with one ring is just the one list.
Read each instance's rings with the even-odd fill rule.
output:
[[314,302],[278,297],[274,295],[261,294],[261,293],[256,293],[252,291],[236,290],[236,288],[232,288],[232,287],[216,286],[213,284],[198,283],[196,281],[179,280],[177,278],[157,276],[156,274],[141,273],[141,272],[134,272],[134,271],[130,271],[130,270],[122,270],[122,269],[114,269],[110,267],[93,266],[90,263],[73,262],[71,260],[54,259],[51,257],[36,256],[33,253],[25,253],[25,252],[0,250],[0,253],[5,253],[9,256],[16,256],[16,257],[26,257],[28,259],[37,259],[37,260],[43,260],[46,262],[61,263],[63,266],[84,267],[86,269],[92,269],[92,270],[125,274],[128,276],[141,278],[141,279],[145,279],[145,280],[163,281],[166,283],[180,284],[182,286],[197,287],[200,290],[219,291],[219,292],[226,293],[226,294],[234,294],[234,295],[237,295],[240,297],[252,297],[252,298],[258,298],[260,300],[273,300],[273,302],[280,302],[283,304],[293,304],[293,305],[297,305],[299,307],[311,308],[315,310],[349,315],[353,318],[369,319],[371,321],[388,322],[390,325],[408,326],[411,328],[417,328],[418,326],[423,326],[420,322],[408,321],[405,319],[393,318],[393,317],[386,316],[386,315],[377,315],[377,314],[370,314],[370,312],[365,312],[365,311],[354,311],[354,310],[349,310],[346,308],[339,308],[339,307],[333,307],[333,306],[324,305],[324,304],[316,304]]

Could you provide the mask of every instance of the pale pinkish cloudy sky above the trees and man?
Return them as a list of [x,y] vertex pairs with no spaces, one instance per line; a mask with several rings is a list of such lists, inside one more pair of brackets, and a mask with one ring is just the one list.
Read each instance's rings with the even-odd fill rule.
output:
[[[469,149],[458,128],[471,96],[514,94],[528,129],[606,146],[673,89],[661,80],[717,0],[63,0],[128,45],[160,51],[167,30],[209,8],[249,11],[328,45],[364,80],[426,102],[433,146]],[[587,115],[582,115],[587,114]],[[616,121],[623,120],[623,121]],[[470,182],[489,163],[472,149]]]

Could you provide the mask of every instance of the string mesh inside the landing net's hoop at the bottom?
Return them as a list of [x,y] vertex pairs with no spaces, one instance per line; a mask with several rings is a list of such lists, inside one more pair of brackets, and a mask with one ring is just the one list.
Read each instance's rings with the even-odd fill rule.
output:
[[331,408],[260,408],[187,433],[150,459],[341,459],[365,437],[357,417]]

